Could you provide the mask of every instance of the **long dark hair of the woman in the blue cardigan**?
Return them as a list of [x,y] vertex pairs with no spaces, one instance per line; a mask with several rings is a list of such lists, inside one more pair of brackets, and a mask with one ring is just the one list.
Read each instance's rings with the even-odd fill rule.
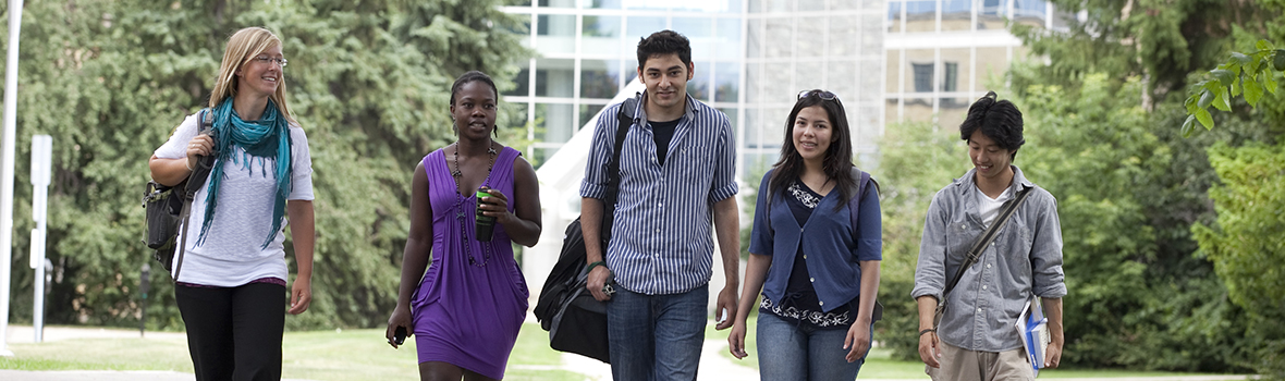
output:
[[821,167],[825,174],[834,180],[835,190],[843,195],[843,200],[835,205],[835,210],[839,210],[848,205],[848,200],[853,196],[852,189],[856,187],[856,180],[852,178],[852,131],[848,128],[848,113],[844,112],[839,97],[833,96],[834,99],[826,100],[821,97],[822,92],[821,90],[807,91],[807,96],[794,103],[790,117],[785,119],[785,142],[781,144],[781,159],[772,165],[776,171],[772,172],[772,180],[768,181],[767,189],[770,195],[783,194],[790,182],[803,174],[803,157],[794,149],[794,119],[804,108],[820,105],[830,118],[831,139],[834,140],[825,150]]

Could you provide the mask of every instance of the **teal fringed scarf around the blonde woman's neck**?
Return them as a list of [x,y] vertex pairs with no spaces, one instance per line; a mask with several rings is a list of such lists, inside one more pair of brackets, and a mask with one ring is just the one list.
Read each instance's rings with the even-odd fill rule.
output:
[[[272,100],[267,101],[263,115],[258,121],[242,121],[236,110],[233,109],[233,99],[229,97],[215,106],[215,151],[218,160],[209,171],[209,187],[206,195],[206,221],[200,224],[200,237],[197,245],[206,241],[209,232],[209,223],[215,221],[215,210],[218,210],[218,185],[224,178],[224,164],[227,162],[240,164],[242,169],[254,173],[253,163],[258,162],[260,173],[267,176],[267,167],[272,165],[272,177],[276,178],[276,201],[272,204],[272,230],[267,232],[267,240],[262,248],[276,239],[276,232],[281,230],[281,221],[285,217],[285,196],[290,194],[290,124],[285,115],[276,109]],[[233,146],[244,149],[244,154],[234,155]]]

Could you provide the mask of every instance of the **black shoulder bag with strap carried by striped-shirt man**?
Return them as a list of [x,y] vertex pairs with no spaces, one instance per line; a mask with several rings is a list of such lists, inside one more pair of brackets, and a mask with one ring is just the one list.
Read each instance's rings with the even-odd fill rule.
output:
[[[603,251],[612,237],[612,221],[616,212],[616,196],[621,181],[621,148],[625,135],[634,124],[636,99],[626,99],[617,113],[616,148],[608,162],[607,198],[603,200]],[[598,301],[586,290],[589,272],[585,269],[585,235],[580,228],[580,218],[567,226],[563,236],[563,249],[558,263],[549,272],[545,286],[540,289],[540,300],[533,313],[540,327],[549,331],[549,346],[610,363],[610,348],[607,340],[607,303]]]

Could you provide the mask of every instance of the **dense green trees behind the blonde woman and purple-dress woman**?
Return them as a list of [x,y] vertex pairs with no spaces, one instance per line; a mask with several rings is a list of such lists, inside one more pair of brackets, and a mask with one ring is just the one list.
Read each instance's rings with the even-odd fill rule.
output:
[[[447,97],[468,69],[501,90],[529,58],[501,1],[76,1],[23,13],[18,168],[30,135],[53,135],[50,323],[136,323],[146,158],[204,106],[226,37],[266,26],[284,40],[289,101],[308,133],[317,195],[314,304],[292,328],[378,326],[394,301],[419,159],[451,137]],[[515,109],[501,106],[500,126]],[[502,142],[518,133],[504,131]],[[18,171],[17,183],[27,183]],[[15,217],[30,216],[17,187]],[[26,213],[26,214],[24,214]],[[31,222],[15,218],[15,231]],[[15,235],[15,248],[28,245]],[[293,266],[292,246],[287,244]],[[22,250],[15,250],[22,253]],[[26,263],[15,255],[15,264]],[[26,266],[15,266],[21,269]],[[292,271],[293,272],[293,271]],[[30,295],[15,272],[14,295]],[[152,273],[152,327],[180,326],[170,278]],[[26,294],[23,294],[26,290]],[[30,317],[30,296],[14,318]]]

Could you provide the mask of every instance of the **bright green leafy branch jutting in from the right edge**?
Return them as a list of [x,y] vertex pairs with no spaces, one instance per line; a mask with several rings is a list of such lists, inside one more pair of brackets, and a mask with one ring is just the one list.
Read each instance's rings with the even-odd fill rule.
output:
[[1187,119],[1182,122],[1182,136],[1191,137],[1199,121],[1205,130],[1213,130],[1213,115],[1209,106],[1230,112],[1231,99],[1244,95],[1250,106],[1257,106],[1264,91],[1276,94],[1276,78],[1272,69],[1285,72],[1285,50],[1276,49],[1267,40],[1258,40],[1258,51],[1250,54],[1231,53],[1227,63],[1209,71],[1213,80],[1201,81],[1187,96]]

